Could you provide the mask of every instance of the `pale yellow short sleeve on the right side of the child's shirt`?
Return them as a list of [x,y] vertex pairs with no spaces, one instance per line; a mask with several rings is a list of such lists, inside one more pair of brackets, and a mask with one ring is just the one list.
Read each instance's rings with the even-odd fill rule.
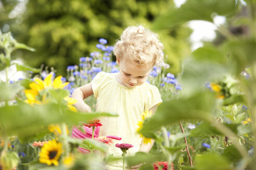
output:
[[163,101],[158,88],[156,86],[151,85],[148,90],[147,101],[145,104],[145,111],[149,110],[155,105],[160,105],[162,102]]

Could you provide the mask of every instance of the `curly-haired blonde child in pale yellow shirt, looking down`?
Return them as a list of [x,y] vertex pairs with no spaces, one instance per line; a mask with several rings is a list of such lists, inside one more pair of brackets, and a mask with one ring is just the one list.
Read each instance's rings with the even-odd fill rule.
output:
[[[149,110],[153,114],[162,103],[157,87],[146,82],[153,66],[163,61],[162,49],[157,34],[145,30],[143,26],[127,27],[113,50],[120,72],[100,72],[91,83],[72,93],[72,97],[78,101],[74,106],[80,111],[91,112],[84,98],[94,94],[96,111],[119,114],[118,117],[101,118],[103,127],[99,135],[120,136],[124,143],[134,145],[127,152],[128,155],[138,151],[149,152],[153,145],[142,143],[136,129],[143,111]],[[109,153],[120,157],[122,152],[113,145]],[[107,165],[107,169],[122,169],[122,162],[112,162]]]

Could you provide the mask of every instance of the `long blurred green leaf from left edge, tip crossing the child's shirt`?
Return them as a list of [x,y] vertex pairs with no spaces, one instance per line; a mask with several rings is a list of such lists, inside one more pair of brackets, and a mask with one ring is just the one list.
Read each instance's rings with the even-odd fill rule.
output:
[[83,113],[70,110],[61,112],[59,107],[60,105],[50,103],[35,106],[19,103],[16,106],[1,107],[0,123],[8,135],[31,136],[44,131],[44,126],[49,124],[66,122],[75,125],[80,121],[91,120],[99,116],[117,116],[108,113]]

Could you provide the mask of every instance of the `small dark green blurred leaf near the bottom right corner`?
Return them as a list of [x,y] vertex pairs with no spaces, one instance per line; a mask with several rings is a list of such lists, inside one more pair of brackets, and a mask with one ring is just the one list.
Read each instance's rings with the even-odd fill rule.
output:
[[239,151],[236,149],[234,145],[229,145],[222,154],[226,159],[231,162],[236,162],[242,158]]

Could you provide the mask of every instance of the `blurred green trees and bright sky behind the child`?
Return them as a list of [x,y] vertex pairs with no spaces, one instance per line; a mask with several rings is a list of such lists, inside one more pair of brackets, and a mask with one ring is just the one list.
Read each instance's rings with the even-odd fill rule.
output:
[[[0,0],[0,28],[14,38],[36,49],[18,50],[12,59],[33,67],[54,67],[57,75],[67,75],[67,66],[79,64],[79,58],[97,51],[99,38],[113,46],[125,27],[142,24],[150,29],[152,22],[185,0]],[[214,21],[215,22],[215,21]],[[225,18],[216,19],[216,24]],[[185,57],[202,41],[212,40],[216,25],[193,21],[174,26],[159,34],[164,44],[168,72],[181,73]],[[114,59],[114,56],[113,56]],[[43,64],[43,65],[42,65]],[[43,69],[44,69],[43,67]]]

